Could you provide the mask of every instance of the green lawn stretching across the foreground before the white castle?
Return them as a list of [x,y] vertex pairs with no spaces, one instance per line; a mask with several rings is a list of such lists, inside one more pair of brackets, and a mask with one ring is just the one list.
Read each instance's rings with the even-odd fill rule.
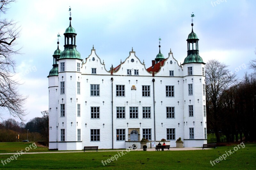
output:
[[[13,152],[18,148],[24,151],[29,143],[20,144],[20,146],[13,143],[9,145],[11,145],[9,151]],[[0,143],[0,152],[8,152],[6,147],[8,143]],[[120,151],[23,154],[6,165],[1,163],[0,169],[255,169],[256,144],[245,144],[244,148],[240,146],[241,149],[237,151],[234,147],[235,145],[195,151],[124,151],[123,153],[126,152],[124,155]],[[38,148],[40,147],[36,149]],[[31,152],[35,150],[31,149]],[[226,160],[221,160],[220,163],[213,164],[214,166],[210,164],[211,160],[219,158],[230,150],[232,154],[227,156]],[[121,157],[117,160],[106,162],[105,166],[102,164],[102,160],[104,162],[111,159],[118,153]],[[11,156],[0,155],[0,161]]]

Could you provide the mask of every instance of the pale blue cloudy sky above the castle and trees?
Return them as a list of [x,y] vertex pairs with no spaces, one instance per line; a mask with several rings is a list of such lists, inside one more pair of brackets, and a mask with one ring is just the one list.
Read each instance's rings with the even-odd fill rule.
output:
[[[94,45],[107,70],[124,61],[132,47],[146,68],[150,67],[159,51],[159,36],[164,57],[172,48],[174,58],[183,63],[194,12],[193,29],[204,62],[217,59],[239,78],[252,72],[247,64],[256,57],[255,0],[18,0],[1,17],[18,21],[21,27],[17,48],[23,47],[22,55],[14,59],[16,77],[23,83],[20,93],[28,95],[27,121],[48,110],[47,76],[58,33],[60,49],[64,49],[69,6],[82,59],[90,55]],[[9,117],[6,114],[3,118]]]

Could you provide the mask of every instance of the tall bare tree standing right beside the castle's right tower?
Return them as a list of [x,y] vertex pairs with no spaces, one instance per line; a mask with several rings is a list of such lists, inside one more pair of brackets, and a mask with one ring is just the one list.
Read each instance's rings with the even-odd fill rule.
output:
[[220,127],[223,123],[223,100],[228,88],[236,83],[236,75],[232,74],[227,65],[213,59],[205,66],[207,122],[214,130],[217,142],[220,142]]

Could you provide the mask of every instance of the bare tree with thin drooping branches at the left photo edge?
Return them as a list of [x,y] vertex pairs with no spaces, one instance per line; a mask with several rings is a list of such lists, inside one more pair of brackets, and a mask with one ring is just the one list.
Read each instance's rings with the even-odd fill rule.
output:
[[[12,2],[15,0],[0,1],[0,14],[5,13]],[[8,110],[10,115],[23,120],[26,115],[23,105],[27,97],[19,93],[17,89],[20,84],[13,78],[16,63],[12,56],[19,54],[20,50],[14,48],[20,32],[16,24],[13,20],[0,18],[0,107],[3,112]]]

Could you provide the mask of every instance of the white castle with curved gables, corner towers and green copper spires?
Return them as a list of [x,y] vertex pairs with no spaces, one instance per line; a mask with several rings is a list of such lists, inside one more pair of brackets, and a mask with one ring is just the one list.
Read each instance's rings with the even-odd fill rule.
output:
[[49,149],[127,148],[142,138],[164,138],[171,147],[179,137],[184,147],[207,143],[205,63],[193,23],[182,66],[171,51],[164,58],[159,45],[149,68],[132,49],[108,71],[94,47],[89,57],[81,58],[69,20],[64,51],[58,45],[48,76]]

